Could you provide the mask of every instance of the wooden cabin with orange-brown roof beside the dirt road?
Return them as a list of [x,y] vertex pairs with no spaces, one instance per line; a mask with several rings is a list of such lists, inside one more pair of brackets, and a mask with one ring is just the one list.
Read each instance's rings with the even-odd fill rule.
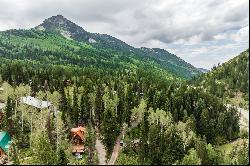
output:
[[81,158],[84,152],[85,132],[86,129],[82,126],[71,129],[71,142],[73,144],[72,154],[77,158]]

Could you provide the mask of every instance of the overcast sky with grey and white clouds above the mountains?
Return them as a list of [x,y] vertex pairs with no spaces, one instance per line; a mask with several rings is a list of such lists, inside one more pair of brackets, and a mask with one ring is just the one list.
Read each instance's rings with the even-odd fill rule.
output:
[[249,48],[248,0],[0,0],[0,30],[61,14],[86,31],[210,69]]

